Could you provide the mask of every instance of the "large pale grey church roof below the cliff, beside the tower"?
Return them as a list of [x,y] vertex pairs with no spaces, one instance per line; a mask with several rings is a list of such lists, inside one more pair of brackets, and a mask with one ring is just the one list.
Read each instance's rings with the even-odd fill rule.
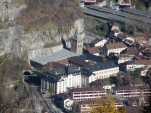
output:
[[71,51],[68,51],[66,49],[61,49],[61,50],[58,50],[54,53],[50,53],[46,56],[36,57],[36,58],[31,59],[31,60],[34,61],[34,62],[37,62],[41,65],[45,65],[49,62],[55,62],[55,61],[67,59],[67,58],[70,58],[70,57],[73,57],[73,56],[77,56],[77,54],[73,53]]

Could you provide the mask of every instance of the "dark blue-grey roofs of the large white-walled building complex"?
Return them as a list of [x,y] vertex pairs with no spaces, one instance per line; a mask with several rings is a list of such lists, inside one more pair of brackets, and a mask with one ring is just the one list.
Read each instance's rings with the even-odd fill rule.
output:
[[97,71],[97,70],[118,67],[118,65],[115,64],[114,61],[108,60],[108,59],[105,61],[101,61],[100,57],[96,58],[91,55],[81,55],[81,56],[75,56],[75,57],[81,60],[86,60],[86,59],[92,60],[93,62],[95,62],[95,64],[90,63],[82,67],[77,66],[77,65],[70,65],[70,66],[64,66],[61,68],[55,68],[53,70],[48,71],[46,73],[47,76],[45,76],[43,79],[46,79],[49,81],[57,81],[61,78],[61,76],[68,76],[68,74],[73,74],[73,75],[83,74],[83,75],[89,76],[94,71]]

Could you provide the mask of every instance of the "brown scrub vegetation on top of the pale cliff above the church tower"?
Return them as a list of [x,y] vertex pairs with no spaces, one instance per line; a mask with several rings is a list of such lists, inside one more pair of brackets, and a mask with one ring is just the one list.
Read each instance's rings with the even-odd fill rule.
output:
[[25,3],[27,8],[17,23],[27,31],[57,28],[59,32],[66,32],[81,16],[79,0],[25,0]]

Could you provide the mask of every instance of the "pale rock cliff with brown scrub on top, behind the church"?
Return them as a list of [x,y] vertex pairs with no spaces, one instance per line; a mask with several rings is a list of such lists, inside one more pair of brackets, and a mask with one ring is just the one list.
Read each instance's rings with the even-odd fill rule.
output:
[[[0,55],[12,53],[15,56],[22,57],[25,56],[25,54],[27,55],[29,50],[42,50],[42,48],[50,48],[58,45],[61,43],[61,38],[68,40],[74,36],[76,31],[80,33],[80,30],[84,28],[83,20],[80,19],[80,16],[77,16],[79,15],[77,11],[80,10],[77,8],[77,5],[75,5],[76,3],[74,4],[74,1],[69,1],[68,3],[65,2],[65,0],[61,0],[60,2],[57,2],[57,0],[43,0],[43,3],[37,3],[37,0],[31,0],[27,4],[21,4],[21,6],[16,5],[17,3],[15,4],[14,1],[17,2],[17,0],[3,0],[3,4],[6,1],[8,5],[5,4],[6,6],[4,7],[1,4],[0,7],[7,10],[6,12],[10,12],[12,9],[15,10],[13,13],[9,13],[11,17],[5,15],[6,18],[3,18],[2,15],[0,16],[2,19],[1,24],[6,26],[0,29]],[[11,2],[13,3],[12,6]],[[37,3],[37,6],[34,5],[35,7],[31,8],[32,3]],[[53,20],[51,20],[51,15],[55,10],[49,8],[51,13],[47,11],[44,12],[45,6],[48,7],[52,4],[53,8],[58,10]],[[60,6],[60,8],[57,9],[56,6]],[[73,10],[74,7],[75,9]],[[59,13],[61,8],[65,16]],[[37,11],[39,9],[41,9],[40,12],[43,14]],[[73,12],[71,12],[70,9],[73,10]],[[72,18],[70,18],[70,16]],[[39,17],[40,20],[37,20],[36,17]],[[73,17],[75,18],[73,19]],[[57,18],[59,18],[60,21]],[[66,22],[67,20],[70,21],[70,24]],[[75,25],[75,23],[79,25]]]

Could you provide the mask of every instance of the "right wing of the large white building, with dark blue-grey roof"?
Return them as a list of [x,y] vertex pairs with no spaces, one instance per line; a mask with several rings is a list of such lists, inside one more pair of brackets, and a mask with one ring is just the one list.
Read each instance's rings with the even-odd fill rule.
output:
[[114,61],[92,54],[75,57],[71,59],[71,63],[83,68],[86,75],[89,76],[89,83],[116,76],[119,72],[119,66]]

